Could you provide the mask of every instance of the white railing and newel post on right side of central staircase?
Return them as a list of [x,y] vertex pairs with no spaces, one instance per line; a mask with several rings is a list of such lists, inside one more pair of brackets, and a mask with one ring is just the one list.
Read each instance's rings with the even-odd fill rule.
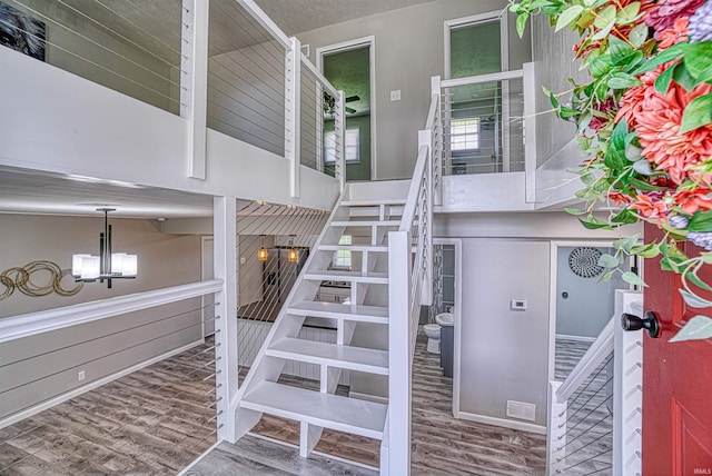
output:
[[411,370],[421,305],[429,304],[433,269],[433,143],[439,96],[433,95],[426,129],[398,231],[388,234],[388,416],[382,474],[411,468]]

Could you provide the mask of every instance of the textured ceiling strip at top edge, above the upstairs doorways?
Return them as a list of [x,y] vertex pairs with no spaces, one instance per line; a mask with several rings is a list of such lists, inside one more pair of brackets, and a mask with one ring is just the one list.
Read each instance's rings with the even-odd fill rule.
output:
[[434,0],[255,0],[287,36]]

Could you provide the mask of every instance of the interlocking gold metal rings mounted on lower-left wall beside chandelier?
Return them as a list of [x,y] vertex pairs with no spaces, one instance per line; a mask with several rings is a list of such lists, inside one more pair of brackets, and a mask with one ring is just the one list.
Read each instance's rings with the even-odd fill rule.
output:
[[[49,279],[44,284],[38,284],[37,278],[32,280],[32,275],[37,272],[46,272]],[[0,274],[0,285],[4,290],[0,292],[0,300],[7,299],[14,290],[19,290],[26,296],[40,297],[56,292],[59,296],[73,296],[83,288],[83,282],[78,282],[71,289],[62,287],[62,279],[71,276],[71,269],[61,269],[59,265],[52,261],[31,261],[22,267],[8,268]]]

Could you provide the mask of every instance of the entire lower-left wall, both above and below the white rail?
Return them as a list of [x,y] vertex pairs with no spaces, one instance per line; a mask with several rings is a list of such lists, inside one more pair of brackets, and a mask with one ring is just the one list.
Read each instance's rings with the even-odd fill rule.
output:
[[[110,222],[115,250],[138,255],[137,279],[115,280],[112,289],[86,284],[72,297],[16,290],[0,301],[0,317],[200,280],[200,237],[164,235],[148,220]],[[72,254],[98,252],[102,228],[101,218],[0,215],[0,271],[32,260],[69,268]],[[47,276],[32,279],[47,282]],[[201,339],[199,309],[200,298],[192,298],[0,344],[0,418]]]

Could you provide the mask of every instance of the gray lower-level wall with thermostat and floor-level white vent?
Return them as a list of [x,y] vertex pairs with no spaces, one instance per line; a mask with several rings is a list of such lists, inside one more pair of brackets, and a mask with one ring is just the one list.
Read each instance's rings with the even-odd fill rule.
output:
[[[436,215],[434,236],[463,239],[459,410],[510,419],[507,400],[531,403],[535,422],[511,420],[545,425],[551,241],[620,236],[564,212]],[[510,310],[511,299],[526,299],[527,310]]]

